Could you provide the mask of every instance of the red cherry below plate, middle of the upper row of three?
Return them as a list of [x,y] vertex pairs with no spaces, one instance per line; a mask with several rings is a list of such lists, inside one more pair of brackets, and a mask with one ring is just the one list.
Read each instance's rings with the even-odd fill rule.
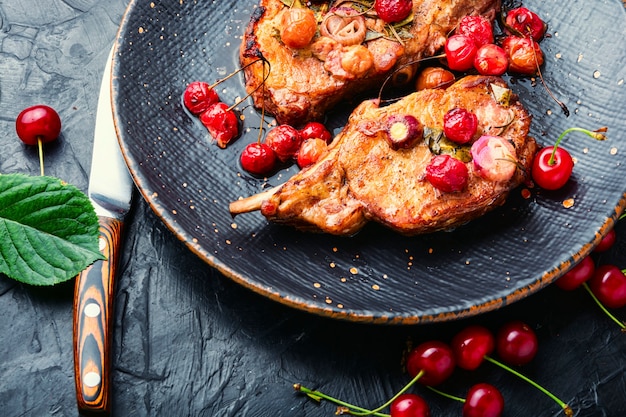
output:
[[473,325],[457,333],[450,344],[459,368],[473,371],[495,348],[495,338],[486,327]]

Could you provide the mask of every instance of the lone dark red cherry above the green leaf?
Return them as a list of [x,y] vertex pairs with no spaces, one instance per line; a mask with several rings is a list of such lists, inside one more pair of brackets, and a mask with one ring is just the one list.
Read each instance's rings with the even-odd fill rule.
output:
[[15,130],[27,145],[51,142],[61,133],[61,118],[52,107],[38,104],[20,112],[15,120]]

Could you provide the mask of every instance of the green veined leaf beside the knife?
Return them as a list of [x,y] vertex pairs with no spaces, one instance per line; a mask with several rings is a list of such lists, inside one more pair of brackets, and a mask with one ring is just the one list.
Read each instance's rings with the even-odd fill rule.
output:
[[0,174],[0,273],[31,285],[75,277],[98,259],[98,217],[78,188]]

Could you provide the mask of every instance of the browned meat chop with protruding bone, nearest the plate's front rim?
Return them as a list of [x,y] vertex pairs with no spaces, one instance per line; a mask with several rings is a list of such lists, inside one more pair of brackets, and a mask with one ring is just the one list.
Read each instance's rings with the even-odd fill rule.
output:
[[[500,78],[468,76],[446,90],[420,91],[385,107],[365,101],[323,159],[282,186],[231,203],[231,213],[260,209],[270,221],[335,235],[354,234],[368,221],[415,235],[475,219],[501,205],[526,179],[537,149],[528,136],[530,115],[515,95],[502,99],[507,96],[502,91],[510,93]],[[456,107],[476,114],[477,135],[499,136],[513,145],[517,161],[509,161],[516,164],[510,179],[483,178],[469,161],[466,188],[438,191],[425,179],[425,167],[433,158],[428,140],[394,151],[380,128],[388,115],[410,114],[425,131],[435,132],[443,129],[444,114]],[[455,151],[460,155],[464,146],[470,145]]]

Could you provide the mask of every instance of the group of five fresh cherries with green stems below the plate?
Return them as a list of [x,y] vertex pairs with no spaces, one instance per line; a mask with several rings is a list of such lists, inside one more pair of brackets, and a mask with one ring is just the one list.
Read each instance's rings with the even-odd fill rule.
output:
[[[444,397],[463,403],[463,417],[499,417],[504,410],[505,400],[502,393],[491,384],[480,382],[473,385],[465,398],[437,388],[453,375],[456,368],[473,371],[484,362],[490,362],[537,388],[554,400],[566,416],[573,416],[572,409],[565,402],[513,368],[532,361],[537,351],[537,335],[522,321],[508,322],[496,334],[484,326],[474,324],[454,335],[450,343],[430,340],[413,348],[406,357],[406,370],[411,381],[385,404],[373,410],[346,403],[300,384],[294,385],[294,388],[310,398],[337,404],[336,414],[429,417],[430,408],[426,400],[408,392],[414,384],[419,383]],[[499,359],[492,356],[494,352]],[[390,414],[382,413],[386,408],[389,408]]]

